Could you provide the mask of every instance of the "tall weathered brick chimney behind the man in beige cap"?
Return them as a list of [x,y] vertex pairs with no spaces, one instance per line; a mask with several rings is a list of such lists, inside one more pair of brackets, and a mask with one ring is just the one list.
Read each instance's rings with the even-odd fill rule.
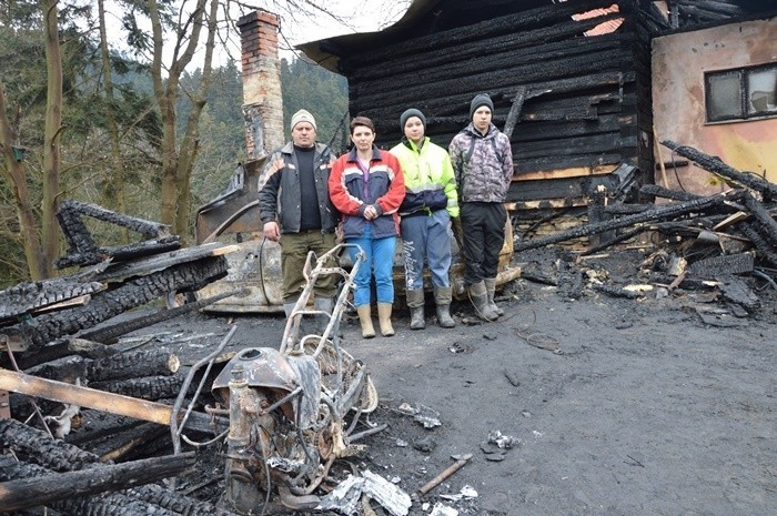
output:
[[238,20],[242,47],[243,118],[250,159],[284,143],[278,17],[262,9]]

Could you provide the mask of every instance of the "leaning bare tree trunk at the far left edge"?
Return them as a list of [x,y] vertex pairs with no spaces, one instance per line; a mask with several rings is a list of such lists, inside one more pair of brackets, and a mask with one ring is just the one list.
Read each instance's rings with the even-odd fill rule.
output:
[[12,145],[16,138],[6,110],[4,87],[0,81],[0,152],[2,153],[0,171],[2,171],[2,175],[8,181],[13,193],[17,219],[19,220],[19,233],[21,234],[20,240],[24,247],[24,257],[30,270],[30,277],[33,281],[43,280],[46,277],[46,264],[40,249],[38,224],[30,200],[30,192],[27,188],[23,166],[13,154]]

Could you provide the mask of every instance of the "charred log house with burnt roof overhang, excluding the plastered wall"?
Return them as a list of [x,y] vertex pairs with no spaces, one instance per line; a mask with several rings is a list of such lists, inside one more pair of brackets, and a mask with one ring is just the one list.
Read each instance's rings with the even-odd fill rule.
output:
[[513,144],[508,208],[516,219],[577,216],[595,190],[606,188],[617,202],[653,183],[663,164],[654,40],[774,23],[775,13],[771,2],[735,0],[414,0],[383,31],[300,49],[347,78],[350,114],[372,118],[383,148],[401,139],[398,118],[410,107],[426,114],[427,135],[447,145],[468,123],[470,100],[488,92],[494,123]]

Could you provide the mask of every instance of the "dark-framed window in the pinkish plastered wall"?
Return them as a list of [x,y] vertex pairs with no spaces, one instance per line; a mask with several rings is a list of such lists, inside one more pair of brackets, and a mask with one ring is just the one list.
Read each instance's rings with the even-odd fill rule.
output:
[[777,63],[704,75],[707,122],[777,115]]

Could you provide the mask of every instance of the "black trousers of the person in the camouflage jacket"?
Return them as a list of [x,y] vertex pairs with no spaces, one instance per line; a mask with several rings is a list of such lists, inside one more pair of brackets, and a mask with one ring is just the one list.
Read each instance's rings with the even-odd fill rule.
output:
[[501,202],[464,202],[464,284],[470,286],[486,277],[496,277],[500,252],[505,243],[507,210]]

